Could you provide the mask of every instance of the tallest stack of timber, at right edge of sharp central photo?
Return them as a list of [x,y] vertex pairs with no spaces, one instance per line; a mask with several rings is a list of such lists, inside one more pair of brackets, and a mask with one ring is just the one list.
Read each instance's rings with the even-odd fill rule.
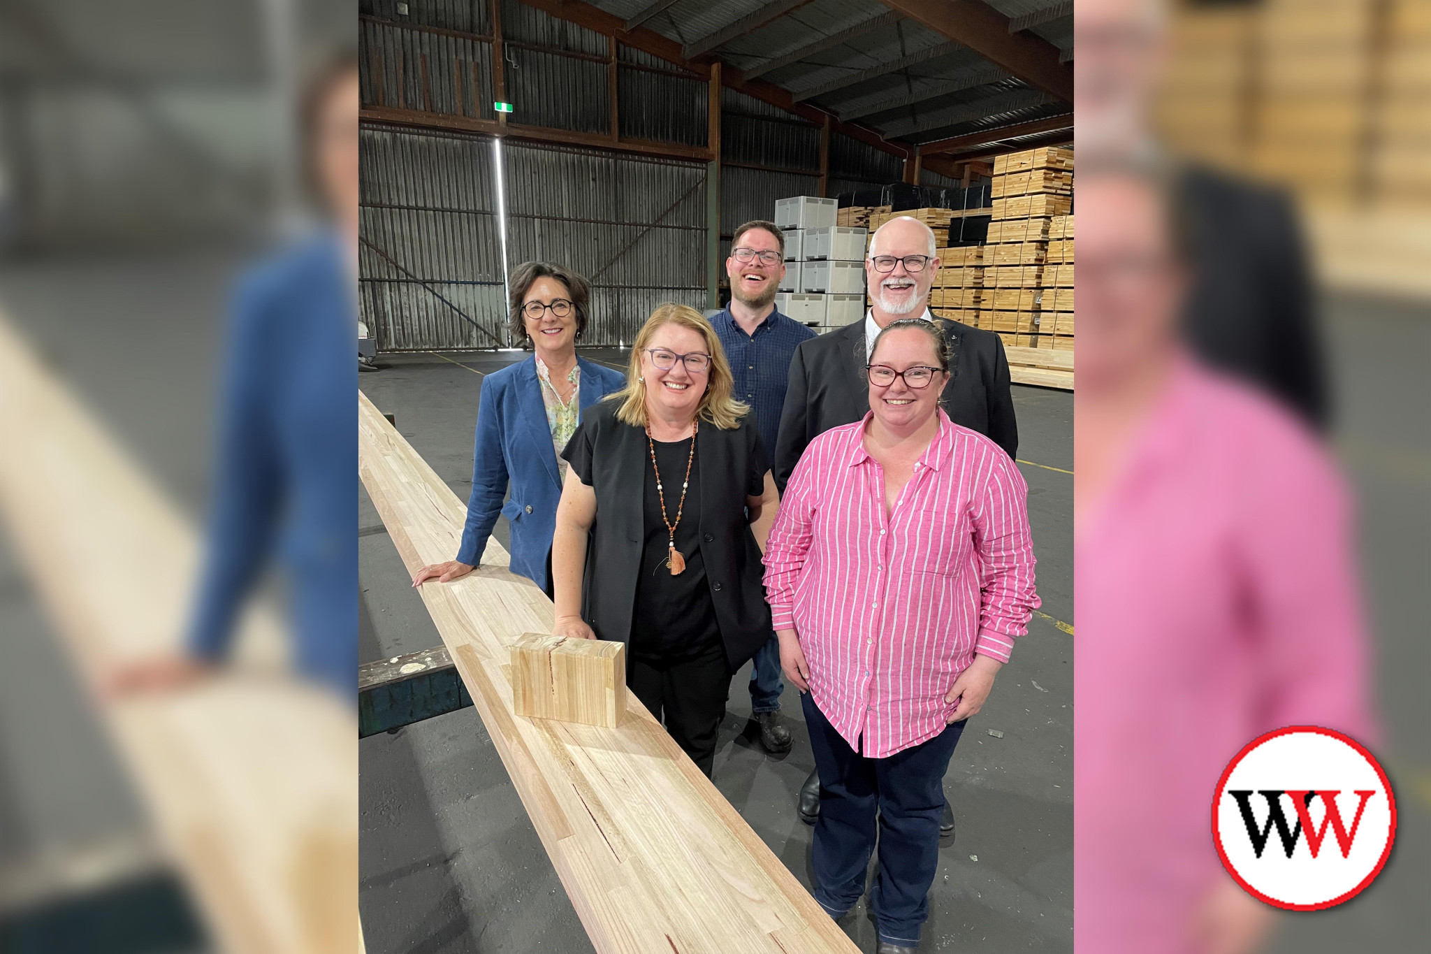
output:
[[[1072,295],[1073,269],[1066,266],[1065,286],[1065,265],[1049,262],[1049,243],[1055,240],[1053,222],[1065,219],[1073,205],[1073,150],[1043,146],[999,156],[993,173],[977,325],[997,332],[1010,348],[1053,348],[1058,289],[1068,287]],[[1065,247],[1059,247],[1060,255]],[[1052,328],[1045,328],[1045,313]],[[1040,340],[1045,336],[1049,340]]]

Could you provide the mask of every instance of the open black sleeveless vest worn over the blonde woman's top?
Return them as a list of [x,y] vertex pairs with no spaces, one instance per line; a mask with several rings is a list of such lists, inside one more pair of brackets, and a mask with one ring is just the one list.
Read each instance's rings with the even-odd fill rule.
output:
[[[615,409],[614,400],[588,408],[571,441],[572,445],[584,438],[591,441],[591,488],[597,493],[597,519],[587,538],[581,615],[597,638],[628,642],[641,572],[643,488],[650,456],[645,431],[618,421]],[[746,519],[747,478],[757,448],[760,433],[753,415],[741,418],[733,431],[701,421],[695,432],[700,513],[684,516],[700,521],[705,582],[733,672],[770,638],[764,565]],[[764,458],[763,451],[760,456]]]

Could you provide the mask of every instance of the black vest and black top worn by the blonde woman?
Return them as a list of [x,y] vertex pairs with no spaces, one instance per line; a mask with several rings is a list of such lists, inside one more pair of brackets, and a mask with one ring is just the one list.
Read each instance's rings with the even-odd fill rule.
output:
[[[690,446],[690,438],[655,445],[673,521]],[[597,495],[581,599],[582,619],[597,636],[654,661],[695,657],[718,641],[733,671],[744,665],[770,636],[764,566],[746,515],[746,498],[760,496],[770,469],[754,421],[743,418],[731,431],[700,422],[675,529],[685,558],[677,576],[665,565],[670,536],[645,429],[617,421],[615,402],[592,405],[562,458]]]

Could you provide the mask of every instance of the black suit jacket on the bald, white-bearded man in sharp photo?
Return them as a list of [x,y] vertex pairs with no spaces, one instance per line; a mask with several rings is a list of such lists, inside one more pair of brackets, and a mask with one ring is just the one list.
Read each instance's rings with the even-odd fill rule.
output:
[[[1003,339],[944,318],[936,318],[934,323],[943,329],[953,352],[953,376],[944,385],[944,412],[950,421],[977,431],[1013,458],[1019,451],[1019,425],[1013,419]],[[870,409],[864,363],[864,319],[796,348],[773,468],[781,493],[811,441],[830,428],[854,423]]]

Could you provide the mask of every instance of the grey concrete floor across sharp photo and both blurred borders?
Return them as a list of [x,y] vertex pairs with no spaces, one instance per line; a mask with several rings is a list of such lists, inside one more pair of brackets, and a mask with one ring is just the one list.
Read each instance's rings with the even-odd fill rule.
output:
[[[233,269],[243,259],[243,253],[205,253],[0,263],[0,309],[41,343],[96,416],[190,518],[202,515],[209,483],[218,323]],[[1424,622],[1431,578],[1431,418],[1425,412],[1431,406],[1425,375],[1431,309],[1332,299],[1327,318],[1341,408],[1337,446],[1361,501],[1367,605],[1377,634],[1385,727],[1381,751],[1402,811],[1397,848],[1377,885],[1337,910],[1289,918],[1274,953],[1400,953],[1420,950],[1431,935],[1431,905],[1425,904],[1431,878],[1431,734],[1425,732],[1431,724],[1425,694],[1431,644]],[[491,360],[455,358],[477,370]],[[488,370],[495,366],[499,362]],[[465,496],[479,378],[446,368],[436,372],[395,363],[382,373],[363,375],[361,383],[386,410],[396,410],[404,433]],[[405,380],[418,376],[432,380],[425,400],[404,393]],[[1017,392],[1019,456],[1072,469],[1072,422],[1058,403],[1066,396]],[[1045,611],[1073,622],[1066,564],[1072,528],[1060,516],[1068,513],[1068,498],[1059,496],[1066,488],[1059,481],[1069,478],[1029,466],[1023,472]],[[369,589],[363,594],[362,658],[436,645],[421,602],[401,585],[402,566],[391,544],[381,529],[373,532],[376,515],[366,501],[362,506],[362,579]],[[1046,622],[1035,622],[979,717],[980,728],[1002,728],[1005,738],[972,731],[956,752],[947,790],[960,834],[944,850],[949,887],[943,875],[936,881],[930,950],[1072,950],[1070,791],[1059,778],[1070,772],[1070,759],[1066,749],[1056,748],[1060,742],[1050,742],[1062,738],[1068,745],[1070,684],[1060,671],[1070,664],[1062,662],[1068,646],[1059,641],[1063,634]],[[79,692],[67,659],[3,539],[0,648],[6,654],[6,665],[0,665],[0,865],[23,865],[41,851],[132,831],[142,810],[93,714],[76,704]],[[1050,689],[1047,697],[1030,694],[1023,677]],[[797,747],[784,761],[753,749],[740,735],[740,707],[748,701],[743,687],[734,688],[734,718],[723,737],[717,782],[797,877],[807,880],[809,830],[793,817],[793,792],[810,765],[809,747],[794,724]],[[1030,738],[1032,717],[1049,707],[1058,714],[1046,718],[1056,725],[1045,725],[1042,735]],[[1030,712],[1023,714],[1025,708]],[[787,711],[798,714],[798,707],[791,701]],[[970,744],[980,739],[982,745]],[[362,754],[361,904],[373,954],[590,950],[475,712],[366,739]],[[1046,792],[1033,798],[1045,782],[1065,801],[1049,801]],[[1052,790],[1055,784],[1063,788]],[[993,811],[995,800],[1000,811],[1012,805],[1003,822]],[[1037,831],[1045,820],[1046,837]],[[1025,834],[1030,824],[1047,847]],[[969,861],[970,854],[979,862]],[[1033,900],[1039,895],[1042,904]],[[1030,927],[1029,913],[1032,920],[1052,918],[1055,930]],[[857,928],[869,941],[869,923]]]

